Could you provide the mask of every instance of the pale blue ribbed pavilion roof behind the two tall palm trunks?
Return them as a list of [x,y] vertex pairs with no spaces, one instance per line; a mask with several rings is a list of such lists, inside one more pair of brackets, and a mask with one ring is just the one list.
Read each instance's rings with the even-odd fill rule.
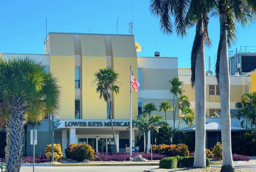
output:
[[[207,122],[205,124],[205,129],[206,131],[221,131],[221,124],[218,122]],[[250,130],[249,127],[247,129]],[[191,132],[195,130],[196,130],[196,126],[193,125],[191,127],[182,128],[180,131]],[[242,130],[245,130],[245,128],[242,128],[241,126],[231,125],[231,131],[242,131]]]

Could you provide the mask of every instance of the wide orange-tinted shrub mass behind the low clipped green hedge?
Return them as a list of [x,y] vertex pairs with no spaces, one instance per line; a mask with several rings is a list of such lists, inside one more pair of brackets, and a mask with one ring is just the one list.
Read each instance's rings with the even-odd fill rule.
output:
[[186,157],[189,155],[188,146],[185,144],[160,144],[153,145],[152,152],[157,154],[167,155],[168,157],[175,157],[177,155]]

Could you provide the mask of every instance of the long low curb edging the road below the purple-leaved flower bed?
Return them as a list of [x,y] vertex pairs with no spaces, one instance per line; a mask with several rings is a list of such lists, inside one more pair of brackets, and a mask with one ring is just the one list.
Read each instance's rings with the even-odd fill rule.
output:
[[52,166],[156,166],[159,163],[67,163],[53,164]]

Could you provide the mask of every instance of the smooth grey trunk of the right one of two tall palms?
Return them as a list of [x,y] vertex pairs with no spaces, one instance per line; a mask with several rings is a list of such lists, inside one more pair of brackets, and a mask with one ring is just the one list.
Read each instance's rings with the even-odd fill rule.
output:
[[222,167],[221,172],[235,171],[231,151],[231,121],[230,121],[230,76],[227,53],[227,29],[225,11],[220,11],[220,64],[219,89],[221,109],[221,142]]

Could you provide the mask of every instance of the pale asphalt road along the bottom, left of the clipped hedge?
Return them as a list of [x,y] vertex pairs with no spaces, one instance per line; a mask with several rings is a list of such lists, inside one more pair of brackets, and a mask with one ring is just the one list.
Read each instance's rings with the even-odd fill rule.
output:
[[[35,172],[143,172],[158,166],[35,166]],[[21,166],[20,172],[32,172],[33,166]]]

